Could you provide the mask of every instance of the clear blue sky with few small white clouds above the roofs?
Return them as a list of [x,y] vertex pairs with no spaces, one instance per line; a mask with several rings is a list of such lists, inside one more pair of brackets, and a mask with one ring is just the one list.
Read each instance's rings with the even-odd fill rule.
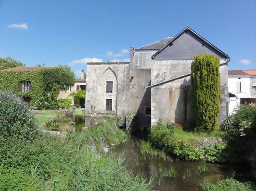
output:
[[228,69],[256,69],[255,0],[0,0],[0,57],[78,74],[186,26],[232,57]]

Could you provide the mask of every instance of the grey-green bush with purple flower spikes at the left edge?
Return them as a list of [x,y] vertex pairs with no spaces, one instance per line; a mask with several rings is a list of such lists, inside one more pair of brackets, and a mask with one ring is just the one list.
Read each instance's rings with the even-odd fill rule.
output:
[[20,135],[32,140],[37,135],[34,113],[13,93],[0,91],[0,135]]

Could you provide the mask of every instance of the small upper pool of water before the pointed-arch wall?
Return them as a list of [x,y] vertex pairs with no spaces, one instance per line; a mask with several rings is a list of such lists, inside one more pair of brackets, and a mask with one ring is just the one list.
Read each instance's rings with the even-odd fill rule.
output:
[[[96,127],[98,122],[103,121],[103,118],[75,115],[59,118],[57,120],[54,120],[53,122],[64,125],[65,127],[67,127],[67,129],[69,129],[69,131],[74,132],[81,131],[83,127]],[[75,124],[69,124],[70,122],[74,122]]]

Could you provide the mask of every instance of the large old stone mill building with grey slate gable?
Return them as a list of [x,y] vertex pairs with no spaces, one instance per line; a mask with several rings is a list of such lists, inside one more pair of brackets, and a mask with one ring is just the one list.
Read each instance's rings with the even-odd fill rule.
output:
[[163,122],[194,123],[191,103],[191,62],[210,53],[220,59],[221,111],[226,119],[228,62],[223,51],[189,27],[178,35],[134,49],[130,62],[87,63],[86,113],[132,114],[132,128]]

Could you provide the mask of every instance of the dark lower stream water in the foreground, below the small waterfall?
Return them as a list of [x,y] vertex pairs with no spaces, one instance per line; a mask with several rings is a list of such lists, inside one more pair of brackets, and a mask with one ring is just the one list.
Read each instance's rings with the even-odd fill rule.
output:
[[[142,135],[142,136],[141,136]],[[162,159],[155,159],[148,156],[143,156],[140,152],[138,143],[143,138],[142,132],[134,132],[128,135],[123,144],[111,147],[111,153],[115,156],[123,154],[125,163],[128,169],[131,169],[135,175],[142,173],[148,178],[154,177],[153,189],[161,191],[198,191],[200,190],[200,183],[204,180],[210,182],[217,182],[218,178],[224,178],[234,171],[235,178],[245,182],[250,180],[250,169],[244,166],[237,165],[218,165],[207,163],[208,171],[204,173],[197,173],[198,162],[184,161],[173,158],[173,161],[164,161]],[[171,166],[176,169],[175,178],[166,177],[165,174],[169,171]],[[185,171],[189,169],[191,176],[182,178]],[[162,177],[162,178],[160,178]]]

